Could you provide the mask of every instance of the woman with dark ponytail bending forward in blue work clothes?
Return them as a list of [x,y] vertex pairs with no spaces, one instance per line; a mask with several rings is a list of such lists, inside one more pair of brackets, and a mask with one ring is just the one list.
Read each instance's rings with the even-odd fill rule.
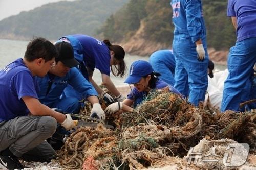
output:
[[[110,71],[112,71],[114,76],[123,77],[125,74],[126,66],[123,60],[125,52],[121,46],[113,45],[109,40],[100,41],[96,38],[80,34],[65,36],[58,41],[71,43],[75,59],[80,63],[78,69],[92,83],[101,98],[109,103],[113,103],[114,99],[118,102],[124,100],[124,96],[117,90],[110,79]],[[114,99],[93,80],[95,68],[101,72],[103,85],[115,96]],[[80,94],[72,87],[67,87],[63,96],[75,96],[81,99]]]

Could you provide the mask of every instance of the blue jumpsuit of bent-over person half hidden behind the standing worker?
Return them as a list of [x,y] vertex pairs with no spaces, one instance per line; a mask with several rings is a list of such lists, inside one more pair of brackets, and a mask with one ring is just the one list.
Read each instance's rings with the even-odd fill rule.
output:
[[[151,54],[150,64],[155,72],[161,74],[158,78],[171,86],[174,86],[174,74],[175,74],[175,57],[173,50],[158,50]],[[185,96],[188,96],[189,88],[186,83]]]

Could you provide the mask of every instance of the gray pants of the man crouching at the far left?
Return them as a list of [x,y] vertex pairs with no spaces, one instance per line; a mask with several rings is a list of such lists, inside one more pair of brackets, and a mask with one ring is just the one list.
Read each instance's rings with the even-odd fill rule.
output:
[[56,152],[45,140],[53,135],[57,122],[50,116],[20,116],[0,122],[0,152],[10,151],[25,161],[47,161]]

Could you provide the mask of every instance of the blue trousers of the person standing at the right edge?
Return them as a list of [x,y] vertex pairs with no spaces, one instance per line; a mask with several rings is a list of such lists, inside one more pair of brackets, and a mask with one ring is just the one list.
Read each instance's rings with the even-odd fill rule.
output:
[[[221,111],[240,111],[242,93],[250,93],[251,88],[245,89],[246,83],[253,74],[256,62],[256,37],[239,41],[230,48],[227,61],[228,77],[224,83]],[[251,86],[251,85],[250,85]],[[244,94],[243,94],[244,95]]]

